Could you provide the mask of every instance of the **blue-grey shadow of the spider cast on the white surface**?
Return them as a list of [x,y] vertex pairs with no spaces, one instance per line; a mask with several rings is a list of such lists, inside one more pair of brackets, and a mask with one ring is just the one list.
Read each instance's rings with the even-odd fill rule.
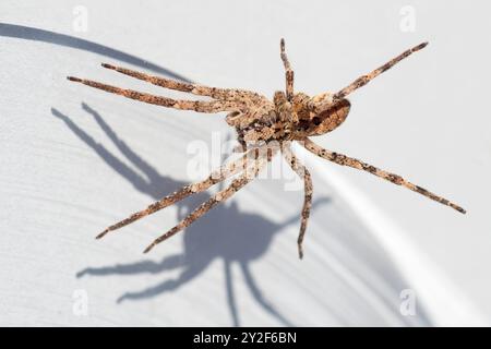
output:
[[[188,184],[188,182],[160,174],[152,165],[146,163],[120,140],[97,111],[86,104],[82,104],[82,108],[95,119],[119,152],[140,169],[144,176],[130,168],[105,146],[97,143],[68,116],[55,108],[51,108],[51,113],[56,118],[61,119],[80,140],[88,145],[110,168],[132,183],[136,190],[154,200],[159,200],[169,192]],[[177,203],[178,219],[182,219],[193,207],[207,198],[209,198],[209,194],[200,193]],[[316,200],[313,208],[328,202],[330,198],[327,197]],[[86,275],[160,274],[167,270],[181,269],[179,276],[175,279],[166,279],[158,285],[140,291],[125,292],[117,300],[118,303],[130,300],[139,301],[177,290],[203,273],[213,261],[219,258],[223,260],[224,264],[227,303],[235,326],[240,325],[240,318],[233,292],[231,268],[233,264],[239,265],[253,299],[280,324],[291,326],[291,322],[263,294],[251,273],[250,263],[266,253],[275,234],[285,231],[285,227],[290,224],[298,224],[298,221],[299,217],[295,216],[277,224],[261,215],[241,212],[236,202],[231,201],[228,205],[218,205],[199,221],[187,228],[182,234],[183,252],[180,254],[165,256],[160,262],[143,260],[122,265],[87,267],[80,270],[76,277],[81,278]]]

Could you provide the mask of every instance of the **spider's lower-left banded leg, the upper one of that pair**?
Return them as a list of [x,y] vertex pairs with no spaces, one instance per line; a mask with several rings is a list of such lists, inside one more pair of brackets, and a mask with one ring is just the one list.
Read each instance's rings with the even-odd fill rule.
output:
[[248,158],[250,157],[251,152],[243,154],[239,159],[237,159],[235,161],[231,161],[229,164],[221,166],[217,170],[213,171],[205,180],[197,182],[197,183],[188,184],[185,186],[182,186],[180,190],[153,203],[145,209],[134,213],[130,217],[128,217],[121,221],[118,221],[117,224],[106,228],[103,232],[100,232],[96,237],[96,239],[100,239],[105,234],[107,234],[109,231],[117,230],[119,228],[128,226],[129,224],[131,224],[135,220],[139,220],[145,216],[152,215],[152,214],[156,213],[157,210],[160,210],[165,207],[168,207],[168,206],[177,203],[178,201],[181,201],[184,197],[188,197],[189,195],[203,192],[203,191],[207,190],[209,186],[217,184],[217,183],[226,180],[227,178],[236,174],[237,172],[239,172],[240,170],[243,170],[246,168],[247,161],[248,161]]

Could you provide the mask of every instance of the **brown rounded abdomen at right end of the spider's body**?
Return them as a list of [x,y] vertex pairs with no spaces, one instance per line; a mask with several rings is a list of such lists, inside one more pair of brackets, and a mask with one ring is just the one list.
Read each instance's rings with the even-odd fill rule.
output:
[[321,135],[340,125],[349,113],[351,104],[348,99],[333,103],[332,94],[322,94],[308,103],[309,120],[304,127],[307,135]]

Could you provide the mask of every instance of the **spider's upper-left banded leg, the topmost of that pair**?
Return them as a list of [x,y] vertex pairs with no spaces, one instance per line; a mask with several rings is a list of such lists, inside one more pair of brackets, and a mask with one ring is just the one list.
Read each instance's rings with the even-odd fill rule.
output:
[[242,97],[243,96],[247,96],[247,97],[258,96],[259,97],[259,95],[256,93],[246,91],[246,89],[218,88],[218,87],[209,87],[209,86],[203,86],[203,85],[191,84],[191,83],[183,83],[183,82],[179,82],[176,80],[165,79],[165,77],[155,76],[155,75],[148,75],[148,74],[145,74],[142,72],[137,72],[137,71],[127,69],[127,68],[116,67],[112,64],[103,63],[101,65],[104,68],[115,70],[115,71],[122,73],[124,75],[128,75],[128,76],[132,76],[132,77],[135,77],[139,80],[146,81],[151,84],[154,84],[154,85],[157,85],[160,87],[187,92],[187,93],[191,93],[191,94],[194,94],[197,96],[207,96],[207,97],[212,97],[212,98],[216,98],[216,99],[226,99],[226,100],[237,99],[238,97],[241,97],[241,96]]

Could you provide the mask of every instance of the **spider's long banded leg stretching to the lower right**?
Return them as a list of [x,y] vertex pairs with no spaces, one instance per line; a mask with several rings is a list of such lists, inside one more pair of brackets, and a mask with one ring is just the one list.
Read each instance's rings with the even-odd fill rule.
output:
[[429,192],[428,190],[426,190],[419,185],[408,182],[407,180],[405,180],[404,178],[402,178],[398,174],[394,174],[394,173],[381,170],[372,165],[366,164],[363,161],[348,157],[346,155],[324,149],[321,146],[313,143],[312,141],[310,141],[309,139],[306,139],[304,143],[302,143],[302,145],[308,151],[312,152],[313,154],[315,154],[324,159],[327,159],[330,161],[336,163],[342,166],[349,166],[349,167],[352,167],[352,168],[356,168],[359,170],[370,172],[370,173],[372,173],[376,177],[383,178],[394,184],[406,186],[407,189],[410,189],[414,192],[424,195],[424,196],[427,196],[431,200],[434,200],[435,202],[439,202],[443,205],[450,206],[450,207],[458,210],[462,214],[466,213],[466,210],[464,208],[462,208],[460,206],[450,202],[448,200],[446,200],[444,197],[433,194],[432,192]]

